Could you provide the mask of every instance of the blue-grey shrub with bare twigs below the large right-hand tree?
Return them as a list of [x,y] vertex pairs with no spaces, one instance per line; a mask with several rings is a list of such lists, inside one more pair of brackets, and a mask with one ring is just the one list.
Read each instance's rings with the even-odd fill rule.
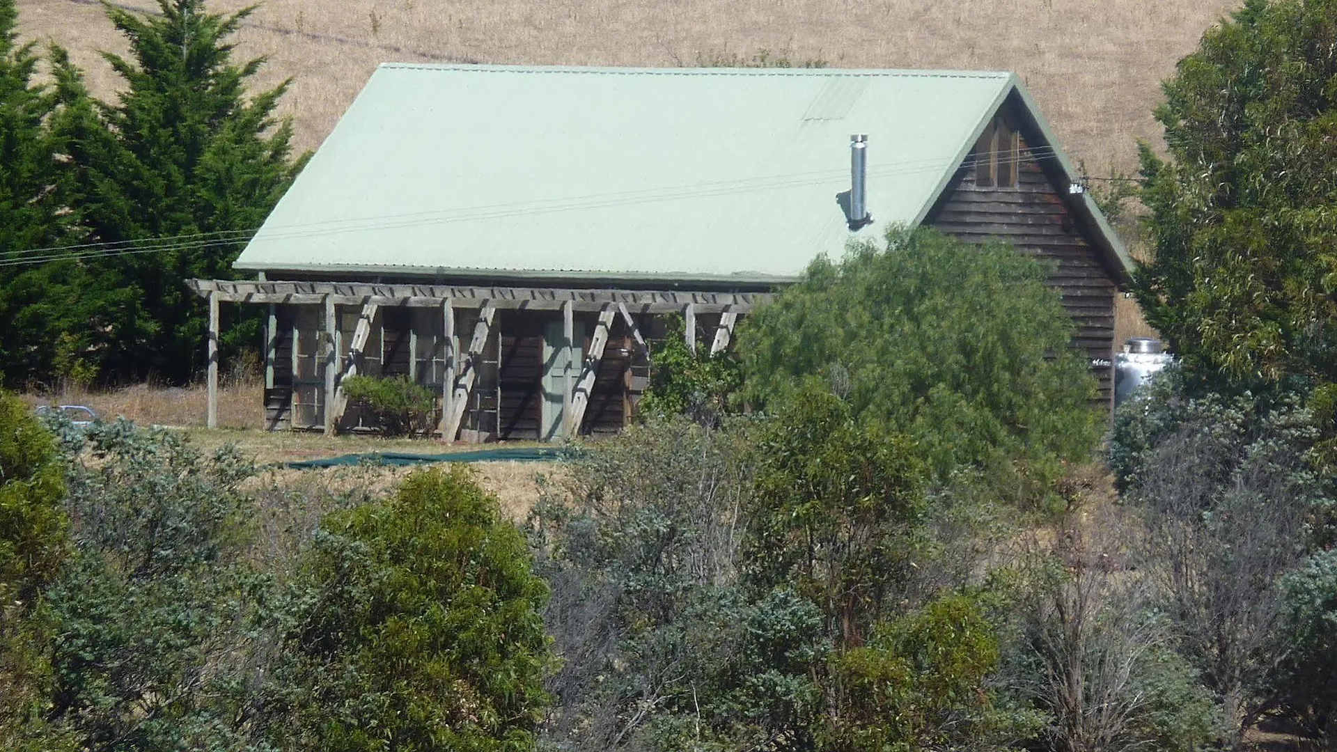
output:
[[1124,499],[1144,512],[1159,605],[1237,736],[1277,704],[1275,666],[1290,652],[1281,582],[1326,535],[1333,479],[1312,462],[1320,439],[1296,396],[1195,392],[1174,372],[1123,405],[1111,435]]

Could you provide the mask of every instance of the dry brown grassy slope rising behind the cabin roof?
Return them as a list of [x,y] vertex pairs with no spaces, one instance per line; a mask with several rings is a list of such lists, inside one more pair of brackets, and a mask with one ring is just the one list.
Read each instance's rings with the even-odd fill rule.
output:
[[[249,0],[211,0],[231,9]],[[154,7],[152,0],[122,0]],[[1238,0],[267,0],[241,54],[294,79],[285,112],[312,149],[384,60],[695,64],[767,48],[837,67],[1021,74],[1063,145],[1103,171],[1155,139],[1159,82]],[[123,43],[90,0],[19,0],[24,36],[67,45],[94,88]]]

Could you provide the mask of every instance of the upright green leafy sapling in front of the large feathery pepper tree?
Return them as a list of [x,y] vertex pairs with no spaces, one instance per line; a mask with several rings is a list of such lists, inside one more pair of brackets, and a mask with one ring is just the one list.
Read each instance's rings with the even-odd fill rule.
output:
[[838,645],[857,645],[923,546],[921,464],[909,442],[857,423],[816,381],[775,407],[758,439],[749,574],[797,587]]

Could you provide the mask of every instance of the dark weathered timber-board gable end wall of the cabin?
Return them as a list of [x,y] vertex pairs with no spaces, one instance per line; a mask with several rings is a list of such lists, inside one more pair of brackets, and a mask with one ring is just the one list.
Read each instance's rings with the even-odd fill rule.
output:
[[[1020,146],[1024,158],[1024,136]],[[1102,403],[1112,404],[1115,282],[1087,241],[1090,230],[1064,203],[1067,186],[1060,193],[1042,165],[1023,161],[1016,187],[976,186],[976,171],[963,169],[924,223],[968,242],[1003,240],[1054,262],[1048,282],[1063,294],[1063,308],[1078,325],[1074,344],[1092,364]]]

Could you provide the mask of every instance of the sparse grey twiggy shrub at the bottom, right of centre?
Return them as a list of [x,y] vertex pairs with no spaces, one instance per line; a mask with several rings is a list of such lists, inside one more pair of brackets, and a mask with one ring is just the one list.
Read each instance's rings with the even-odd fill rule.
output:
[[1051,716],[1047,748],[1190,752],[1221,736],[1215,698],[1173,652],[1175,629],[1128,561],[1134,529],[1122,510],[1072,510],[1056,542],[1028,535],[1017,570],[1000,574],[1019,642],[1004,673]]

